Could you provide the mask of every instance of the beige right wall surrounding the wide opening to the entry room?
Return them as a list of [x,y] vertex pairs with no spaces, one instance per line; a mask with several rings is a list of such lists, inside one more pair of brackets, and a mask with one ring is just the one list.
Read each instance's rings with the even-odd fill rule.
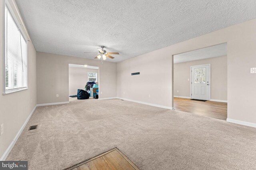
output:
[[256,74],[250,74],[250,67],[256,67],[255,30],[256,19],[120,62],[117,96],[173,107],[172,55],[227,42],[228,118],[256,123]]

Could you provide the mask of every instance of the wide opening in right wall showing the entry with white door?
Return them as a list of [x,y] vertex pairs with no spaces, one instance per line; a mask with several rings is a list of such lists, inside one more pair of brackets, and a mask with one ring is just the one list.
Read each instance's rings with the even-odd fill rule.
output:
[[174,55],[174,109],[227,118],[227,43]]

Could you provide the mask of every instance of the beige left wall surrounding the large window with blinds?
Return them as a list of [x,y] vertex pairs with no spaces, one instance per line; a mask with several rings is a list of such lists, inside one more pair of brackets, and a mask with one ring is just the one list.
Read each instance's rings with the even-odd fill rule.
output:
[[36,50],[28,42],[28,90],[2,95],[3,93],[3,3],[0,3],[0,157],[4,154],[34,107],[36,106]]

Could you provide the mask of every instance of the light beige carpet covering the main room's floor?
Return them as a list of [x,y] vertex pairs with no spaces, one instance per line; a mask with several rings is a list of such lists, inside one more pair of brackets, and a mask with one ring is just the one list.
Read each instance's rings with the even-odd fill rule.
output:
[[256,169],[256,128],[118,99],[37,107],[7,160],[57,170],[115,147],[141,170]]

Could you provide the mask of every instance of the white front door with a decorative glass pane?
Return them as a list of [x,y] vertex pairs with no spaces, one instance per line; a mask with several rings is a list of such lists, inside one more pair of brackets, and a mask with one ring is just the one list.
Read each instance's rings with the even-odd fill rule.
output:
[[209,100],[210,65],[191,67],[191,98]]

